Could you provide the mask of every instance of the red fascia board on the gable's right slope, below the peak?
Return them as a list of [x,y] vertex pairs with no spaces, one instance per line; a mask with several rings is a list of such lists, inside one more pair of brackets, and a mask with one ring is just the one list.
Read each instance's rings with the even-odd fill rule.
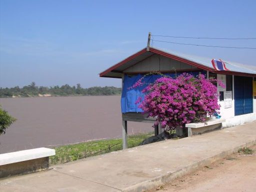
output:
[[204,69],[204,70],[212,70],[212,68],[210,68],[210,67],[203,66],[203,65],[198,64],[198,63],[196,63],[196,62],[193,62],[193,61],[190,61],[190,60],[181,58],[181,57],[179,57],[179,56],[176,56],[176,55],[173,55],[173,54],[170,54],[170,53],[163,52],[163,51],[158,50],[158,49],[155,49],[155,48],[149,48],[149,51],[154,52],[154,53],[156,53],[156,54],[160,54],[160,55],[169,57],[169,58],[173,58],[173,59],[175,59],[175,60],[184,62],[184,63],[186,63],[186,64],[190,64],[190,65],[192,65],[192,66],[195,66],[195,67],[198,67],[198,68],[201,68],[201,69]]

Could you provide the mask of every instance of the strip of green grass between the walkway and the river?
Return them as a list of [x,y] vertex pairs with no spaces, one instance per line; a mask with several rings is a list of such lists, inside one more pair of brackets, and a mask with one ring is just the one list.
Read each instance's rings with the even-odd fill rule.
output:
[[[128,148],[138,146],[142,140],[152,136],[153,133],[137,133],[128,136]],[[56,154],[49,157],[50,165],[69,162],[84,158],[88,156],[94,156],[111,151],[122,149],[122,139],[112,138],[96,141],[81,142],[78,144],[68,144],[54,148]]]

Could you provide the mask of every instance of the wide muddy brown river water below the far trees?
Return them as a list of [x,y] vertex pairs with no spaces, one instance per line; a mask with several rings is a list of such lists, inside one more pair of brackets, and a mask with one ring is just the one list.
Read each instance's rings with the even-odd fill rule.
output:
[[[0,98],[17,120],[0,135],[0,153],[121,137],[120,96]],[[153,131],[128,122],[128,133]]]

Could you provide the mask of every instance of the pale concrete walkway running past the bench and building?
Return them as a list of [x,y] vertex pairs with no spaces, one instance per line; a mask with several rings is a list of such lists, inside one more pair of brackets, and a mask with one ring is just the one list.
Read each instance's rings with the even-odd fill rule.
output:
[[141,191],[256,143],[256,121],[0,180],[0,191]]

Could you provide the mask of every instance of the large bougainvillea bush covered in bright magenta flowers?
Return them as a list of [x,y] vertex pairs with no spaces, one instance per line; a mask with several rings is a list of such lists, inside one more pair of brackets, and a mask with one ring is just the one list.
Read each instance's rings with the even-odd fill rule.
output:
[[[194,77],[182,73],[176,78],[162,76],[146,86],[141,101],[136,102],[148,116],[157,117],[155,125],[161,123],[165,130],[185,123],[205,121],[206,115],[218,112],[215,79],[206,79],[203,74]],[[135,86],[141,85],[141,80]]]

